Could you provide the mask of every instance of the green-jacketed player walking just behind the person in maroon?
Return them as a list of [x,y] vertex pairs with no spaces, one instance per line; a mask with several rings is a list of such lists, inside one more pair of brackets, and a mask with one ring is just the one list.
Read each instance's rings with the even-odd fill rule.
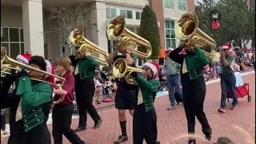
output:
[[98,112],[93,105],[95,91],[94,72],[95,67],[98,66],[98,62],[91,57],[90,52],[86,52],[85,56],[79,57],[82,58],[77,58],[76,53],[70,56],[72,65],[75,66],[74,90],[79,111],[79,123],[78,128],[75,131],[86,130],[86,111],[88,111],[91,118],[94,120],[94,129],[100,127],[102,124],[102,118],[98,115]]

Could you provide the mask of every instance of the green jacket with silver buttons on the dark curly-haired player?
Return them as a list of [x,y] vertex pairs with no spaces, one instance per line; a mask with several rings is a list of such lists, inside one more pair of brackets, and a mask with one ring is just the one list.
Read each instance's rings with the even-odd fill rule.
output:
[[52,102],[52,89],[46,82],[30,81],[21,77],[18,82],[18,95],[22,95],[22,116],[25,132],[47,121],[43,106]]

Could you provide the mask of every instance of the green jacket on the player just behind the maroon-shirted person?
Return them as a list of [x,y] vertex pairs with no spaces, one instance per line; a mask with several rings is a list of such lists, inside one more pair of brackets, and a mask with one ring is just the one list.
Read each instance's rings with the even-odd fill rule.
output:
[[90,55],[85,58],[78,59],[78,74],[80,79],[94,77],[95,67],[98,66],[98,62]]

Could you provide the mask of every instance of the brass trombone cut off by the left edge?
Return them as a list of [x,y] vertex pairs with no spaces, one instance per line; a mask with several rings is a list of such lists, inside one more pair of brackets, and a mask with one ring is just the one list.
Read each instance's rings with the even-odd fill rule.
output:
[[[51,77],[57,78],[58,79],[58,84],[46,82],[46,81],[43,81],[43,80],[40,80],[40,79],[30,78],[31,80],[34,80],[34,81],[46,82],[46,83],[49,83],[50,85],[54,85],[56,89],[61,88],[63,86],[63,83],[66,81],[65,78],[59,77],[58,75],[47,73],[46,71],[36,69],[32,66],[27,66],[26,64],[23,64],[22,62],[18,62],[18,61],[15,61],[12,58],[9,58],[6,55],[6,47],[2,46],[1,47],[1,78],[6,77],[6,74],[11,74],[10,72],[7,72],[7,70],[20,71],[22,69],[26,69],[28,72],[36,71],[38,73],[46,74],[46,75],[49,75]],[[58,103],[62,102],[64,98],[65,97],[61,97],[60,100],[58,100],[57,102],[54,102],[54,104],[58,104]]]

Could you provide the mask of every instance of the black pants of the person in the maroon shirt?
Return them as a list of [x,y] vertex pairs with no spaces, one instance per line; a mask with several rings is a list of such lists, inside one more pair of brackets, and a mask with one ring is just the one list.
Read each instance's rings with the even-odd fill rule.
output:
[[62,144],[62,134],[72,144],[84,143],[74,130],[70,129],[73,113],[73,103],[70,104],[58,104],[53,109],[53,137],[54,144]]

